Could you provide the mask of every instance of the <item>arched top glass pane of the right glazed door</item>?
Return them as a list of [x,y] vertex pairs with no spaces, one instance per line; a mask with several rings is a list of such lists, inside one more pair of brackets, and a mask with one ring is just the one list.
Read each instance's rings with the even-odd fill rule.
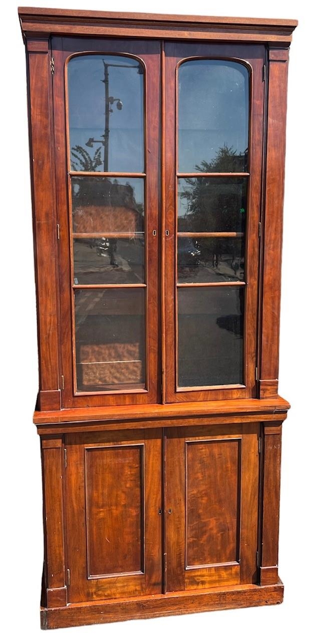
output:
[[247,171],[246,67],[227,60],[190,60],[180,65],[178,84],[178,171]]

